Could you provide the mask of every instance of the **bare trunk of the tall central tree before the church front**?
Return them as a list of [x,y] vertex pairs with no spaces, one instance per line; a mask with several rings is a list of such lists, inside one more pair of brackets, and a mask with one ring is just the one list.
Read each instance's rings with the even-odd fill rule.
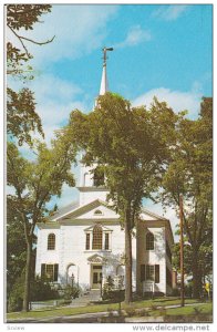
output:
[[125,219],[125,303],[132,302],[132,235],[130,220]]

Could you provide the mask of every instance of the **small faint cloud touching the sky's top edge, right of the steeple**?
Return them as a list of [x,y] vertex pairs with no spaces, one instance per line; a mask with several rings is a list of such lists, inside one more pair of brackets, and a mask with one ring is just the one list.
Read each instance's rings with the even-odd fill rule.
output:
[[178,19],[186,9],[186,4],[159,6],[159,8],[153,12],[153,17],[159,18],[164,21],[174,21]]

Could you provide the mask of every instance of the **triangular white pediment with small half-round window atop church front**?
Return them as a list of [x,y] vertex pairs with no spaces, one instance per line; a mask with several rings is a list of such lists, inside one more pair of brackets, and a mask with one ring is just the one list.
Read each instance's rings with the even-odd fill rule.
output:
[[105,201],[96,199],[84,206],[81,206],[73,211],[61,216],[56,220],[81,220],[81,219],[93,219],[93,220],[105,220],[105,219],[118,219],[120,216],[112,209]]

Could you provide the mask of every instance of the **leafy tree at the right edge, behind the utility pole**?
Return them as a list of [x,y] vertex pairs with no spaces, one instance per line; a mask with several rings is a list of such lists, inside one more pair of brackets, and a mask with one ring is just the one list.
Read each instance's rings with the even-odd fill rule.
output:
[[[190,246],[193,295],[198,298],[203,273],[200,260],[211,242],[213,222],[213,100],[204,98],[196,121],[182,120],[177,144],[163,179],[163,199],[178,208],[184,197],[184,231]],[[209,246],[208,245],[208,246]],[[208,249],[209,250],[209,249]],[[205,257],[204,257],[205,258]]]

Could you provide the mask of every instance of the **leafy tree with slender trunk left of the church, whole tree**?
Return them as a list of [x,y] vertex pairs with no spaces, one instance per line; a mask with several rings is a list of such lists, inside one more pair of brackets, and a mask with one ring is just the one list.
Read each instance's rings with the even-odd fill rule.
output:
[[25,281],[23,310],[29,311],[30,280],[32,264],[32,245],[37,222],[45,221],[46,204],[51,198],[61,195],[62,185],[74,186],[71,163],[75,160],[74,147],[59,134],[51,148],[39,143],[35,160],[28,160],[20,155],[13,143],[8,143],[7,170],[8,185],[14,194],[8,196],[10,207],[17,211],[25,237]]

